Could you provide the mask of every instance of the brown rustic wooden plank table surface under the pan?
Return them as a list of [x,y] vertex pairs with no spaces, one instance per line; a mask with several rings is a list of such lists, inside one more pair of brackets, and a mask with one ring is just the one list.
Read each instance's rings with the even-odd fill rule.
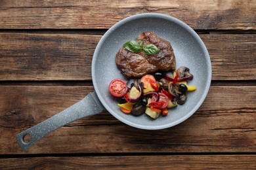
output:
[[[190,25],[209,50],[211,88],[178,126],[146,131],[109,112],[28,150],[16,134],[93,92],[96,44],[144,12]],[[0,169],[256,169],[256,1],[0,1]]]

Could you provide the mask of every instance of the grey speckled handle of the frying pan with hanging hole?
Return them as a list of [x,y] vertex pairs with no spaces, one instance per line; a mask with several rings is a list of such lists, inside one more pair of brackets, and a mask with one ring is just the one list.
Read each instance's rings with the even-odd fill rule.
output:
[[[16,135],[16,141],[22,150],[30,148],[34,143],[53,132],[54,130],[79,120],[81,118],[98,114],[104,110],[104,106],[100,103],[96,92],[89,93],[81,101],[75,103],[68,109],[55,114],[51,118],[22,131]],[[30,141],[24,141],[24,138],[28,136]]]

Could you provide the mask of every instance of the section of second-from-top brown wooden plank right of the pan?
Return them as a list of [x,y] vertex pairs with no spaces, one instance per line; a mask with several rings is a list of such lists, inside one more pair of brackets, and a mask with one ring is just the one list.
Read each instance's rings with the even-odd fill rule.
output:
[[211,58],[212,80],[256,79],[256,35],[211,34],[200,37]]

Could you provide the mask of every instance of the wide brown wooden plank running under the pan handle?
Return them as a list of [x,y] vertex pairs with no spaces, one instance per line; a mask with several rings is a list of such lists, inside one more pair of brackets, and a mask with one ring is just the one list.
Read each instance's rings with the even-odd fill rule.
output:
[[0,154],[256,152],[256,86],[212,86],[188,120],[168,129],[127,126],[108,112],[77,120],[22,151],[16,134],[81,100],[92,87],[0,86]]

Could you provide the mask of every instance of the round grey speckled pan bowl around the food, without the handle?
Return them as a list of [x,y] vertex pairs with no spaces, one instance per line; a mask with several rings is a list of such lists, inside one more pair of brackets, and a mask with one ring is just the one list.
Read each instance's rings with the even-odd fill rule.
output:
[[[116,67],[117,51],[122,44],[135,40],[143,31],[152,31],[171,42],[177,68],[189,67],[194,78],[188,84],[196,85],[197,88],[195,92],[188,93],[184,105],[169,109],[167,116],[160,116],[157,120],[152,120],[146,114],[123,114],[117,106],[117,100],[108,92],[108,84],[114,78],[127,80]],[[202,105],[211,83],[211,61],[203,41],[184,22],[163,14],[137,14],[117,22],[100,39],[93,55],[92,76],[102,105],[121,122],[140,129],[163,129],[183,122]]]

